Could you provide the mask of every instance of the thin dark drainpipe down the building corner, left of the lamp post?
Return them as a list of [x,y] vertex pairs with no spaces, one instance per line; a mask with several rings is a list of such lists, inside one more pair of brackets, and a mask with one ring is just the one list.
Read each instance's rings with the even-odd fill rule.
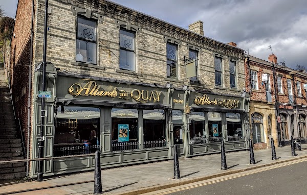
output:
[[[30,113],[31,113],[31,86],[32,86],[32,57],[33,57],[33,15],[34,15],[34,0],[32,1],[32,16],[31,16],[31,38],[30,38],[30,62],[29,62],[29,85],[28,85],[28,137],[27,137],[27,160],[29,160],[30,152]],[[29,161],[27,161],[27,177],[29,177]]]

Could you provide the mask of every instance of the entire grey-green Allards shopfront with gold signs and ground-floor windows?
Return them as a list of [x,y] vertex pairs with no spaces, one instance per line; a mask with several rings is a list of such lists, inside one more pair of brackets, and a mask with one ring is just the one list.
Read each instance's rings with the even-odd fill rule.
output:
[[[94,156],[87,154],[96,150],[101,152],[101,167],[108,168],[170,160],[174,144],[181,157],[220,152],[223,138],[226,150],[246,149],[242,97],[201,94],[174,89],[171,84],[119,83],[51,72],[44,155],[56,159],[45,160],[46,176],[94,169]],[[36,81],[40,78],[36,72]],[[34,87],[36,94],[38,90],[39,85]],[[204,95],[209,100],[202,101]],[[190,113],[184,108],[187,104]],[[35,114],[41,110],[38,97],[34,110]],[[34,124],[32,158],[37,158],[39,117]],[[32,163],[32,177],[36,177],[36,165]]]

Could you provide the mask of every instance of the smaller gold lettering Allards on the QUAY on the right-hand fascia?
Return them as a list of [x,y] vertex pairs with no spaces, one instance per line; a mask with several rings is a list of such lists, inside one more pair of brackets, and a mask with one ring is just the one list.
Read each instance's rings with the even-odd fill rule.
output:
[[203,95],[203,96],[197,96],[195,97],[194,103],[196,105],[215,105],[215,106],[225,106],[226,108],[236,108],[239,106],[239,101],[238,100],[230,100],[230,99],[224,99],[218,100],[209,100],[208,95]]

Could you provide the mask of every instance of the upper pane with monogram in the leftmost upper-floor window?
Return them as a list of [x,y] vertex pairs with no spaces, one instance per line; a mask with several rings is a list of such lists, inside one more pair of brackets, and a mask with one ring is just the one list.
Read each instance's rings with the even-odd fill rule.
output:
[[96,22],[78,17],[78,37],[96,41]]

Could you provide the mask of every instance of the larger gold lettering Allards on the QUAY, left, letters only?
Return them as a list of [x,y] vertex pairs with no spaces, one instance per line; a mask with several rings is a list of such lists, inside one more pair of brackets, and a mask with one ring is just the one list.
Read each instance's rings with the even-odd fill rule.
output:
[[108,97],[117,97],[119,99],[128,100],[130,97],[138,102],[146,103],[148,101],[160,102],[160,95],[162,91],[158,92],[155,90],[138,90],[133,89],[130,92],[124,90],[117,90],[116,87],[112,91],[104,91],[100,89],[100,85],[97,85],[95,81],[87,82],[85,85],[81,86],[78,83],[72,84],[68,92],[75,97],[78,95],[82,96],[108,96]]

